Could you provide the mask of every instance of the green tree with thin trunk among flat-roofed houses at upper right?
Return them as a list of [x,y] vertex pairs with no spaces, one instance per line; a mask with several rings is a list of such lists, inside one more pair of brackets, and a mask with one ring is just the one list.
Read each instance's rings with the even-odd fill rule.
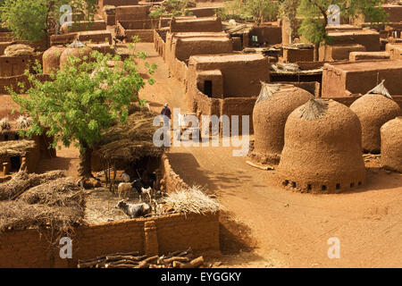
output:
[[300,0],[297,13],[303,17],[298,32],[315,46],[315,60],[321,43],[331,41],[325,27],[328,23],[331,4],[337,4],[342,18],[355,20],[364,15],[372,23],[385,22],[387,13],[382,9],[383,0]]

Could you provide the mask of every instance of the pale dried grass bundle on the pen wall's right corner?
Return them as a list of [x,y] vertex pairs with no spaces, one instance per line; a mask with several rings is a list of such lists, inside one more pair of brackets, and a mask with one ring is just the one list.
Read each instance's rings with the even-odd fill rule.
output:
[[214,198],[206,196],[199,186],[176,190],[165,198],[165,203],[174,213],[214,214],[222,209],[221,204]]

